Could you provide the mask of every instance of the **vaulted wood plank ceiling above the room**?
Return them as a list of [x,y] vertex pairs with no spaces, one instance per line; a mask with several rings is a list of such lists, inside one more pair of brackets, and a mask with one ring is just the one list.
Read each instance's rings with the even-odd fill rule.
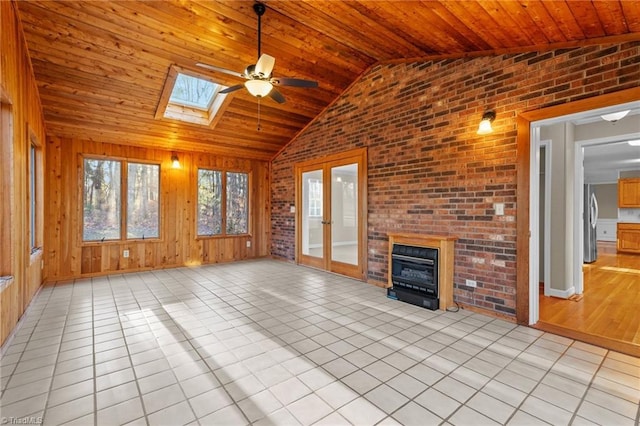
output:
[[154,118],[171,65],[225,85],[257,57],[251,1],[20,1],[16,3],[49,134],[270,159],[370,66],[547,50],[640,39],[635,1],[269,0],[262,52],[274,76],[317,80],[282,87],[287,102],[245,90],[214,126]]

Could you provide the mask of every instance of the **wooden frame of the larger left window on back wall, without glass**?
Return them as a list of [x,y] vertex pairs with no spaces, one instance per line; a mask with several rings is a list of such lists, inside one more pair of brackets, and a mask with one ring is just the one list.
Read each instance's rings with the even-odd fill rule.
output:
[[[108,156],[108,155],[92,155],[80,154],[81,171],[78,176],[78,200],[79,200],[79,223],[80,232],[78,239],[80,246],[95,246],[104,244],[122,244],[129,242],[159,242],[163,240],[162,215],[164,211],[164,197],[162,197],[162,163],[152,160],[133,159],[127,157]],[[98,161],[118,161],[120,162],[120,237],[101,240],[85,240],[84,239],[84,177],[85,177],[85,160]],[[150,238],[127,238],[127,216],[128,216],[128,191],[129,191],[129,164],[145,164],[158,167],[158,236]]]

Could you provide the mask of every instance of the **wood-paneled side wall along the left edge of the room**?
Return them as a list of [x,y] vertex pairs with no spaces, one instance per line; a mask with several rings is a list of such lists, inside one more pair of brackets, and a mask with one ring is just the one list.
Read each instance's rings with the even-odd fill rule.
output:
[[[44,120],[23,31],[13,2],[0,2],[0,343],[4,343],[42,283],[41,253],[31,255],[29,146],[44,141]],[[37,180],[42,180],[38,176]],[[42,226],[36,241],[41,242]]]

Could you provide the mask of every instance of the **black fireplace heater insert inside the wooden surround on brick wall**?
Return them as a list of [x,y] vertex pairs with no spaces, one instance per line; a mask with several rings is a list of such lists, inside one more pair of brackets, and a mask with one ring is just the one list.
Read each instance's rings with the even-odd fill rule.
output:
[[387,296],[427,309],[439,307],[438,248],[393,244]]

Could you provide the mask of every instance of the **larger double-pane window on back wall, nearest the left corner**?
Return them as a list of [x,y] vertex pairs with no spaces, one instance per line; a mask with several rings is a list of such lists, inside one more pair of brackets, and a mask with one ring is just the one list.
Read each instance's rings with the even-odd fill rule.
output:
[[85,158],[83,241],[158,238],[159,194],[158,164]]

